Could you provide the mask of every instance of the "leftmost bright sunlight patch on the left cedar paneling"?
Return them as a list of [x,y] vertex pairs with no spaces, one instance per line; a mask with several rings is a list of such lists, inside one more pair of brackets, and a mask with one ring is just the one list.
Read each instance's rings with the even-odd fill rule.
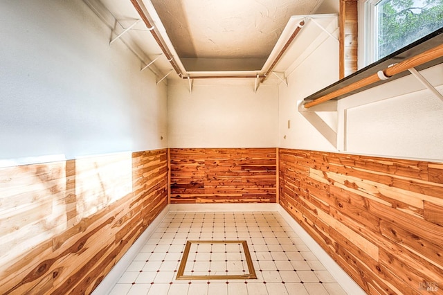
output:
[[66,161],[0,168],[0,265],[66,229],[65,168]]

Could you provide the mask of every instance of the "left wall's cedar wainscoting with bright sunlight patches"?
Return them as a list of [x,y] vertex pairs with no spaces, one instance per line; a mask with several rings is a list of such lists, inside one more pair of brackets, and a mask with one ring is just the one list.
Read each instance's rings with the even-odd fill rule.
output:
[[0,169],[0,294],[90,294],[168,202],[155,150]]

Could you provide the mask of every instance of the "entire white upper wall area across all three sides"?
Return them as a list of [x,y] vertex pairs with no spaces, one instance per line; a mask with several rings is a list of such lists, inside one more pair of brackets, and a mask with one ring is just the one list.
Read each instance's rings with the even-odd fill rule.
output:
[[[332,38],[294,62],[288,87],[195,80],[190,94],[174,80],[167,101],[165,84],[140,72],[124,44],[109,46],[109,28],[84,2],[5,0],[0,13],[0,166],[167,147],[168,129],[170,147],[338,151],[297,111],[338,79]],[[442,91],[442,65],[423,74]],[[339,116],[322,114],[346,138],[339,151],[441,161],[442,102],[422,89],[409,76],[340,100]]]

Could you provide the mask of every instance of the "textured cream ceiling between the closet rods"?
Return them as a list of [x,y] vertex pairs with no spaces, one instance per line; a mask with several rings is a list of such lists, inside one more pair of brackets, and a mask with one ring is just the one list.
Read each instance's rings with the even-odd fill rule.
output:
[[152,4],[181,59],[249,59],[250,64],[258,61],[253,65],[257,67],[271,53],[289,18],[314,13],[322,1],[152,0]]

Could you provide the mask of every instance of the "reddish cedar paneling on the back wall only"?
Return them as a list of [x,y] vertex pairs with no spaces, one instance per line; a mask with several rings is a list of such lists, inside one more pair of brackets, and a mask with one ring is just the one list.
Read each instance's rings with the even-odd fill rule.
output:
[[171,203],[273,203],[275,148],[170,150]]

